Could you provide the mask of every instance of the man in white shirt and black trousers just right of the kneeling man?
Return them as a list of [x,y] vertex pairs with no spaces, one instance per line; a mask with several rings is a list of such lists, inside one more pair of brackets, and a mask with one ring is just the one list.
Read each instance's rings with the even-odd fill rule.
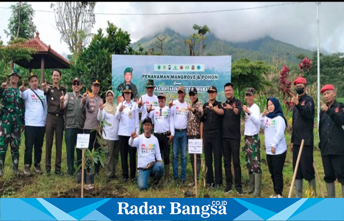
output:
[[147,112],[148,117],[155,125],[154,136],[159,141],[160,154],[164,157],[165,186],[167,186],[170,175],[170,148],[174,137],[174,122],[171,108],[165,106],[166,94],[164,92],[159,92],[158,102],[158,108],[153,109],[149,106]]

